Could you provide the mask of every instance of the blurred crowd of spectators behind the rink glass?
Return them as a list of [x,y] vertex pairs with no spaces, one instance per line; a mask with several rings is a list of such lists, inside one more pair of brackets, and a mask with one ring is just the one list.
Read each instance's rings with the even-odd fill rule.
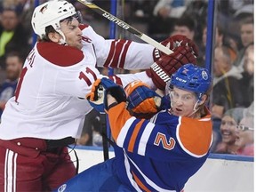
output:
[[[41,0],[40,3],[45,2]],[[76,0],[69,0],[84,23],[109,38],[109,21]],[[110,12],[110,0],[92,0]],[[0,116],[14,94],[23,61],[35,43],[30,20],[34,0],[0,0]],[[205,65],[207,0],[121,0],[117,17],[161,42],[185,35],[199,47],[198,65]],[[212,46],[212,153],[253,156],[254,144],[254,1],[215,0]],[[141,42],[122,28],[116,38]],[[209,46],[207,44],[207,46]],[[108,69],[103,73],[108,73]],[[118,71],[118,73],[132,71]],[[104,116],[92,110],[86,116],[79,145],[101,146]]]

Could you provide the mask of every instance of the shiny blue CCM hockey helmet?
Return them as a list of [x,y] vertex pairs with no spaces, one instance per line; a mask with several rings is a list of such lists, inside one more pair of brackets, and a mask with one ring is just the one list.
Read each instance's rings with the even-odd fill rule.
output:
[[212,84],[209,71],[206,68],[200,68],[192,63],[180,67],[172,76],[170,87],[176,86],[180,89],[195,92],[198,99],[206,93]]

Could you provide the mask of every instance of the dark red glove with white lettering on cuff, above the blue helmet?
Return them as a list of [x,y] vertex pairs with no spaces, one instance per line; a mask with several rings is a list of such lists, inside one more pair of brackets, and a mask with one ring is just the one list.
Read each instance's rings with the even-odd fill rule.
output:
[[152,78],[156,87],[164,91],[166,83],[170,80],[170,76],[182,65],[188,63],[196,64],[196,58],[191,52],[190,47],[180,46],[172,54],[164,55],[160,60],[153,63],[146,70],[146,73]]

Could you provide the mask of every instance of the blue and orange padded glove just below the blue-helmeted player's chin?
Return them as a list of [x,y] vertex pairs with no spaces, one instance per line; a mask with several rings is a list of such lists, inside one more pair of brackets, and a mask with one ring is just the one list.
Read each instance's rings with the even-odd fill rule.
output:
[[134,81],[125,87],[125,92],[132,116],[149,119],[159,111],[161,96],[149,89],[148,84]]

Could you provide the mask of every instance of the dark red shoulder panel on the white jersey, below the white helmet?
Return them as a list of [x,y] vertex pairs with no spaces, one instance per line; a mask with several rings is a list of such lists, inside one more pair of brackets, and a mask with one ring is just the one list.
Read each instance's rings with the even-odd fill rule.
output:
[[84,53],[75,47],[51,42],[39,42],[36,47],[45,60],[57,66],[72,66],[84,59]]

